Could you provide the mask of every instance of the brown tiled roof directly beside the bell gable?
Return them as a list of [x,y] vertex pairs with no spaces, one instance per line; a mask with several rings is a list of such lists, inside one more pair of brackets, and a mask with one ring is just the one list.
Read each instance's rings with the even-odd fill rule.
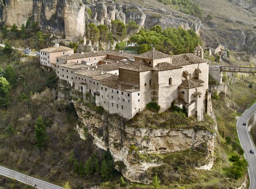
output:
[[189,65],[189,64],[197,64],[202,62],[209,62],[207,59],[202,59],[199,56],[195,56],[194,54],[179,54],[172,56],[172,64],[173,65]]

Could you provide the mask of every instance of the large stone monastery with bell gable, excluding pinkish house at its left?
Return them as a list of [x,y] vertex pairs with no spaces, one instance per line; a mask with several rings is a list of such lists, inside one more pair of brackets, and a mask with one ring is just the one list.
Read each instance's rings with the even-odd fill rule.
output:
[[[119,56],[113,56],[114,53]],[[86,56],[59,56],[57,62],[62,64],[57,63],[56,71],[61,79],[74,84],[76,90],[95,96],[96,105],[109,113],[132,118],[154,99],[160,111],[167,110],[173,103],[186,107],[188,116],[196,116],[201,121],[209,98],[209,61],[203,59],[203,55],[200,45],[194,54],[175,56],[154,49],[134,57],[122,56],[122,52],[97,51]],[[69,57],[78,61],[69,62]]]

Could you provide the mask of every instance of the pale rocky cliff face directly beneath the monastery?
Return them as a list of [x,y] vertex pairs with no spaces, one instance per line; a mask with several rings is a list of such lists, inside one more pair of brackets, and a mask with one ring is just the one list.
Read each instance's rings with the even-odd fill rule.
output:
[[[100,115],[90,105],[73,100],[82,126],[77,126],[81,138],[84,127],[93,136],[97,147],[109,150],[116,162],[116,169],[132,182],[149,183],[145,171],[164,162],[157,155],[188,149],[201,149],[207,164],[198,162],[195,168],[210,169],[214,160],[215,131],[205,129],[152,129],[136,128],[120,116]],[[212,127],[212,126],[209,126]],[[213,130],[217,130],[213,126]],[[148,157],[148,158],[145,158]],[[122,165],[122,166],[120,166]],[[198,166],[198,167],[197,167]]]

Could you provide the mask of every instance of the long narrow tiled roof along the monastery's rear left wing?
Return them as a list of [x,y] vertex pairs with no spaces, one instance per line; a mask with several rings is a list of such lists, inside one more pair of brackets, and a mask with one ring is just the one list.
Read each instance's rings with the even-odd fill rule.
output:
[[95,52],[84,52],[83,54],[76,53],[76,54],[71,54],[71,55],[63,55],[63,56],[58,56],[58,58],[70,60],[70,59],[79,59],[79,58],[104,56],[104,55],[120,56],[122,58],[133,58],[134,54],[122,53],[122,52],[117,52],[117,51],[95,51]]

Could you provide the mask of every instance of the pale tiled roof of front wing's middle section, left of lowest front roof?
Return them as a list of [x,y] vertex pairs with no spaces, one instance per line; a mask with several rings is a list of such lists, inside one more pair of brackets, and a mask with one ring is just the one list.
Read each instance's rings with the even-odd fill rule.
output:
[[98,71],[98,70],[92,70],[92,69],[81,69],[79,71],[76,71],[75,72],[76,74],[79,74],[81,76],[87,76],[87,77],[90,77],[92,79],[96,79],[96,80],[99,80],[99,81],[109,81],[109,80],[112,80],[118,76],[115,76],[113,74],[110,74],[110,73],[102,73],[101,71]]

